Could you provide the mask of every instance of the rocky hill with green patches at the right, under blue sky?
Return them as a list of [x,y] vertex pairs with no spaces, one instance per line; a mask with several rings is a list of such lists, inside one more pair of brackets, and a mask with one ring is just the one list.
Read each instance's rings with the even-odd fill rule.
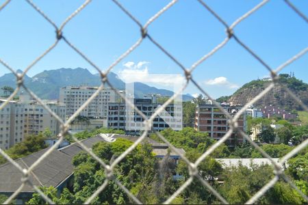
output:
[[[268,87],[268,79],[251,81],[246,83],[239,90],[237,90],[232,96],[229,96],[227,102],[232,104],[245,105],[247,102],[255,98],[260,92]],[[285,91],[285,87],[288,87],[302,102],[308,106],[308,84],[303,83],[295,77],[290,77],[289,74],[280,74],[279,83],[270,90],[259,101],[255,102],[255,107],[264,107],[266,105],[277,105],[287,110],[302,110],[303,108]]]

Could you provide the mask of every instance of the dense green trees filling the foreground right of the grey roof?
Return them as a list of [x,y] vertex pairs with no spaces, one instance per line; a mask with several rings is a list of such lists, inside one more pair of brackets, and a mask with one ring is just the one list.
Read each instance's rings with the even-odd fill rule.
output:
[[[205,150],[214,143],[206,133],[197,133],[192,128],[184,128],[183,131],[162,131],[162,135],[176,147],[184,148],[190,161],[196,161]],[[157,137],[152,135],[156,140]],[[94,145],[93,152],[105,163],[110,163],[127,150],[132,142],[126,139],[117,139],[114,143],[100,142]],[[292,147],[286,145],[264,144],[262,146],[272,157],[281,157],[289,152]],[[298,153],[288,162],[289,167],[285,173],[292,178],[294,183],[307,194],[308,184],[308,154],[306,150]],[[251,167],[222,168],[220,163],[213,158],[217,157],[254,157],[258,153],[248,144],[235,148],[229,152],[227,146],[222,145],[216,152],[207,157],[199,166],[201,177],[212,176],[219,180],[209,180],[211,186],[231,204],[243,204],[252,197],[266,182],[273,178],[273,170],[270,165],[251,165]],[[259,156],[257,156],[259,157]],[[106,179],[103,167],[92,159],[89,154],[81,152],[73,159],[75,165],[75,177],[73,189],[64,189],[60,196],[53,187],[44,187],[42,190],[47,193],[57,204],[81,204],[85,202],[95,190],[97,190]],[[298,169],[300,167],[300,169]],[[172,177],[174,172],[182,175],[182,178],[175,180]],[[143,143],[128,154],[114,169],[114,178],[136,195],[141,202],[146,204],[162,203],[172,195],[180,186],[190,178],[188,166],[182,161],[176,165],[169,155],[158,159],[152,152],[151,145]],[[213,178],[212,178],[213,179]],[[220,183],[223,182],[223,183]],[[133,203],[125,192],[118,187],[114,181],[98,197],[95,197],[92,204],[130,204]],[[194,178],[192,184],[179,194],[172,202],[175,204],[220,204],[217,198],[211,194],[201,182]],[[305,204],[303,197],[290,187],[289,184],[279,180],[269,189],[258,201],[260,204]],[[29,204],[44,204],[42,197],[35,193]]]

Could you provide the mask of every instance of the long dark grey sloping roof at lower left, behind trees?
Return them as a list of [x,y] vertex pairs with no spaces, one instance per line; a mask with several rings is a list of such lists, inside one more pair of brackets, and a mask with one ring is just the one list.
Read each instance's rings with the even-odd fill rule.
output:
[[[124,138],[130,141],[136,141],[138,137],[127,136],[127,135],[114,135],[107,134],[107,137],[113,137],[115,139]],[[92,148],[94,143],[99,141],[107,141],[100,135],[90,137],[82,140],[82,143],[88,148]],[[109,141],[107,141],[109,142]],[[165,143],[158,143],[153,139],[146,137],[143,142],[151,143],[153,146],[153,152],[159,156],[165,156],[168,153],[168,146]],[[159,146],[159,147],[157,147]],[[44,152],[47,152],[49,148],[40,150],[21,159],[16,159],[16,163],[23,168],[30,167],[35,161],[39,159]],[[78,143],[72,143],[69,146],[53,150],[42,162],[40,162],[31,172],[29,178],[32,184],[41,187],[57,187],[68,176],[73,174],[74,166],[72,164],[73,157],[81,152],[83,149]],[[185,153],[183,149],[178,149],[179,152]],[[177,155],[171,152],[170,155]],[[12,193],[21,186],[21,178],[23,174],[11,163],[5,163],[0,166],[0,193]],[[23,193],[33,193],[34,189],[29,185],[25,184],[25,187],[21,190]]]

